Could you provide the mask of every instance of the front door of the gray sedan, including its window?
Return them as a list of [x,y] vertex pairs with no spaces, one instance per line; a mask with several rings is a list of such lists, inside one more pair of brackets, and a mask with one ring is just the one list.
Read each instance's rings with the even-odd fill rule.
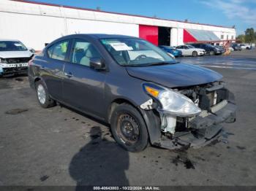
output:
[[69,62],[64,66],[64,101],[83,112],[104,117],[105,71],[90,67],[91,58],[102,58],[86,39],[74,39]]

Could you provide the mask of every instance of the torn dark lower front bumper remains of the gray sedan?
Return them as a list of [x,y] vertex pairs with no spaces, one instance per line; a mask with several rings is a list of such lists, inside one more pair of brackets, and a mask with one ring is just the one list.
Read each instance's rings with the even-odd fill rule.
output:
[[188,121],[187,131],[174,133],[171,140],[162,137],[157,145],[167,149],[199,148],[219,139],[222,132],[221,123],[236,121],[236,105],[229,101],[222,101],[216,106],[221,108],[214,112],[203,111]]

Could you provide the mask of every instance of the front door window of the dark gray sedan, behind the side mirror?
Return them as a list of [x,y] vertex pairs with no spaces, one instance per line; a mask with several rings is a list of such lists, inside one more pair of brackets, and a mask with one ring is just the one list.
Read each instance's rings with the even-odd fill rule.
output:
[[91,58],[101,58],[94,45],[82,39],[77,39],[72,48],[71,62],[90,66]]

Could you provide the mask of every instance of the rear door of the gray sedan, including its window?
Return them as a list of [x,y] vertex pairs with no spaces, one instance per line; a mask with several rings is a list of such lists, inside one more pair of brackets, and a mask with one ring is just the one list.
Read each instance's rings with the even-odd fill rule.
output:
[[68,58],[69,39],[56,42],[47,48],[44,62],[40,64],[40,75],[47,85],[49,94],[62,100],[62,79],[64,63]]

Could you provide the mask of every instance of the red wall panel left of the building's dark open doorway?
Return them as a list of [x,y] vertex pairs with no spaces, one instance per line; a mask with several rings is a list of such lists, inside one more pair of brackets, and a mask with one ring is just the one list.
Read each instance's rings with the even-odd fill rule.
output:
[[139,36],[152,44],[158,45],[158,27],[157,26],[139,26]]

